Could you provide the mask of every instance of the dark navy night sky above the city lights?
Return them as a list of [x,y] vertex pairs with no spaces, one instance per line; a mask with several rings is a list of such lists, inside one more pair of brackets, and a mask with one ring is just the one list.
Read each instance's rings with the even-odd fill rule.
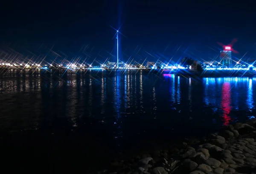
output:
[[115,48],[110,25],[121,26],[126,36],[120,40],[124,60],[186,55],[209,60],[219,53],[217,42],[228,44],[234,38],[236,57],[256,53],[253,1],[10,0],[1,4],[0,13],[1,46],[22,54],[42,54],[54,46],[56,52],[78,56],[88,45],[85,51],[92,59],[103,60]]

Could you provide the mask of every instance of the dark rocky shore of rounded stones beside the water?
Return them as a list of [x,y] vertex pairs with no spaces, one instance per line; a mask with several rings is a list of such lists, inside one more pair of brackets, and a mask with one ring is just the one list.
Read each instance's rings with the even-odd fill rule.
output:
[[98,174],[256,174],[256,120],[236,123],[201,140],[116,160]]

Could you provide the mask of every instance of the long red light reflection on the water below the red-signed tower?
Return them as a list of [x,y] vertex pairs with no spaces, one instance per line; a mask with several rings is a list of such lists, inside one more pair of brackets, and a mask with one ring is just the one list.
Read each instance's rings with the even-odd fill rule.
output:
[[231,111],[231,90],[230,90],[230,83],[223,83],[222,85],[222,94],[221,94],[221,108],[223,110],[223,120],[224,125],[227,126],[231,120],[229,116]]

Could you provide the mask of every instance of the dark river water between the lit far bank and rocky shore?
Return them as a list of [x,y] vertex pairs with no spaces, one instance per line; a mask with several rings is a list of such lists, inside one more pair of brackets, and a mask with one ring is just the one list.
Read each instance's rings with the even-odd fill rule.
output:
[[256,79],[247,77],[8,71],[0,76],[1,144],[17,163],[26,156],[47,166],[42,172],[81,173],[253,118],[254,100]]

